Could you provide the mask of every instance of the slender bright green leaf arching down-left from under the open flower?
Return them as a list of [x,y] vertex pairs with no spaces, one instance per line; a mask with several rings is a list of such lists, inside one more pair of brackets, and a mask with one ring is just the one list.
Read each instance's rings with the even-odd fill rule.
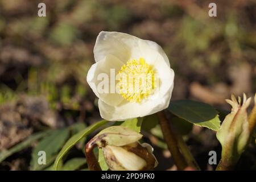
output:
[[99,121],[97,123],[94,123],[94,125],[91,125],[89,127],[87,127],[86,129],[80,131],[79,133],[73,135],[73,137],[71,137],[67,143],[65,143],[65,145],[63,146],[63,148],[61,149],[60,153],[57,155],[57,158],[55,160],[54,163],[54,169],[58,170],[59,169],[59,162],[61,161],[61,159],[63,158],[63,156],[65,154],[67,154],[67,152],[77,143],[79,142],[82,138],[86,137],[87,135],[89,135],[90,133],[92,133],[94,130],[98,129],[98,127],[105,125],[106,123],[108,123],[108,121],[102,120]]

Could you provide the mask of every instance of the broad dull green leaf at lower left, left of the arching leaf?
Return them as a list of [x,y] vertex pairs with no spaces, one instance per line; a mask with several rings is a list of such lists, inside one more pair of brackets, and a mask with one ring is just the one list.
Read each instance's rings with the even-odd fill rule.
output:
[[68,136],[69,136],[68,129],[60,129],[60,130],[52,131],[51,133],[49,133],[47,137],[42,139],[32,151],[32,160],[30,163],[31,170],[34,171],[34,170],[42,169],[42,165],[38,164],[39,151],[46,152],[46,164],[44,165],[44,167],[51,164],[51,162],[54,161],[53,156],[56,155],[56,153],[60,150],[60,148],[63,146],[63,144],[67,140]]

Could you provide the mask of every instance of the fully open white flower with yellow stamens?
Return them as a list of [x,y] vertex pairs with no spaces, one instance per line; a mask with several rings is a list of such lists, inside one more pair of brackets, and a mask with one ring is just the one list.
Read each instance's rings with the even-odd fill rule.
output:
[[[88,71],[87,82],[99,98],[102,118],[123,121],[168,107],[174,88],[174,71],[158,44],[121,32],[102,31],[93,52],[96,63]],[[102,85],[101,73],[110,78],[104,85],[104,90],[109,89],[109,92],[98,90]],[[131,89],[133,86],[127,84],[126,77],[129,80],[130,75],[137,78],[142,74],[146,75],[147,82],[134,81],[131,85],[138,84],[139,87]],[[112,80],[113,75],[119,76],[117,80]],[[113,92],[113,88],[119,88],[118,92]]]

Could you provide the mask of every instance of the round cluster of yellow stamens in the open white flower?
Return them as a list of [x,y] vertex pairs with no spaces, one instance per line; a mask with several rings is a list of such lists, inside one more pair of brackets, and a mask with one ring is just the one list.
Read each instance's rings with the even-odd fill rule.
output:
[[130,102],[141,102],[155,89],[155,71],[143,58],[129,60],[119,71],[119,93]]

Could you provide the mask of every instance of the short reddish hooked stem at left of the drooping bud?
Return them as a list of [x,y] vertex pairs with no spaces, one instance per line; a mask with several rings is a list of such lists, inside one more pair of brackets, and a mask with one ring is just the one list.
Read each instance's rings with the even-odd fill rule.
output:
[[96,147],[94,143],[95,140],[92,138],[88,143],[85,145],[85,155],[88,164],[88,168],[90,171],[101,171],[101,167],[98,164],[98,161],[93,153],[93,148]]

